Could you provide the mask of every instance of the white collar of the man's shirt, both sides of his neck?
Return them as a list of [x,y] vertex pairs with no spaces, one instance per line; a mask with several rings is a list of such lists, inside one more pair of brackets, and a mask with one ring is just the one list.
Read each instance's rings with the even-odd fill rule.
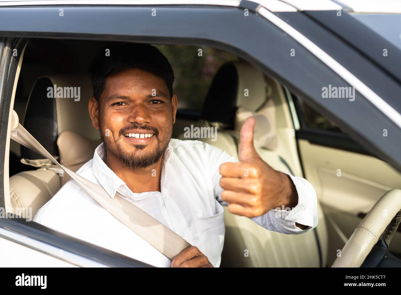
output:
[[[164,175],[166,173],[166,168],[169,163],[171,163],[173,157],[173,147],[171,143],[168,143],[168,147],[163,155],[163,165],[162,165],[162,174],[161,174],[161,187],[164,186]],[[92,171],[100,185],[105,189],[107,194],[114,198],[117,189],[126,184],[124,181],[119,178],[113,170],[111,170],[106,163],[104,163],[103,159],[105,159],[106,153],[104,149],[104,143],[102,142],[95,149],[95,153],[93,155],[93,165]]]

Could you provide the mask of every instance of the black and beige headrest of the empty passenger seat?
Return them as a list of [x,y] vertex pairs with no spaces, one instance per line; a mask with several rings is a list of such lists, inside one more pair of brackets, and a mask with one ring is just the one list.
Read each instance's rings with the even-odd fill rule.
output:
[[217,71],[203,103],[201,119],[222,123],[233,129],[238,107],[257,111],[266,98],[266,82],[261,71],[245,61],[228,62]]

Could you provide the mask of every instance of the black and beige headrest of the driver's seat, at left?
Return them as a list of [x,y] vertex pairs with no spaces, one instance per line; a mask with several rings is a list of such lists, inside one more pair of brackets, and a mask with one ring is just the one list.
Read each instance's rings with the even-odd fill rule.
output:
[[[100,138],[89,117],[88,103],[93,96],[89,74],[55,74],[40,77],[30,92],[23,126],[49,153],[59,156],[57,138],[65,130],[86,138]],[[41,155],[21,146],[26,164],[38,163]]]

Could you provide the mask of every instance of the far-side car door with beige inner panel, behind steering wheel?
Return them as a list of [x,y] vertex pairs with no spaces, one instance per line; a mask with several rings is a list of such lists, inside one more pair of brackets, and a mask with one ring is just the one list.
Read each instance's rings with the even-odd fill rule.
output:
[[[401,173],[369,153],[304,100],[292,99],[299,120],[296,138],[304,174],[314,186],[326,217],[330,265],[337,250],[342,249],[381,196],[401,188]],[[401,228],[389,250],[401,257]]]

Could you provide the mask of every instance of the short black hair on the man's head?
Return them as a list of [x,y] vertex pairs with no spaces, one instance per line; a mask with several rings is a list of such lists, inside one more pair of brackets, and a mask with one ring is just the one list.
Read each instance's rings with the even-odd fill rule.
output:
[[[106,50],[109,49],[109,56]],[[96,54],[89,69],[93,96],[99,102],[107,77],[130,68],[148,71],[164,80],[170,100],[173,95],[174,71],[168,59],[154,46],[142,43],[109,44]]]

